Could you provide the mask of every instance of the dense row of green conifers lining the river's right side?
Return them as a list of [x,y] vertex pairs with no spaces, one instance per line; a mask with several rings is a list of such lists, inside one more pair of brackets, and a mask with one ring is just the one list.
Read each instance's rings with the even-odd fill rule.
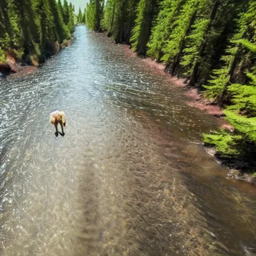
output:
[[256,150],[255,0],[90,0],[86,24],[185,77],[234,130],[204,134],[222,157],[252,162]]

